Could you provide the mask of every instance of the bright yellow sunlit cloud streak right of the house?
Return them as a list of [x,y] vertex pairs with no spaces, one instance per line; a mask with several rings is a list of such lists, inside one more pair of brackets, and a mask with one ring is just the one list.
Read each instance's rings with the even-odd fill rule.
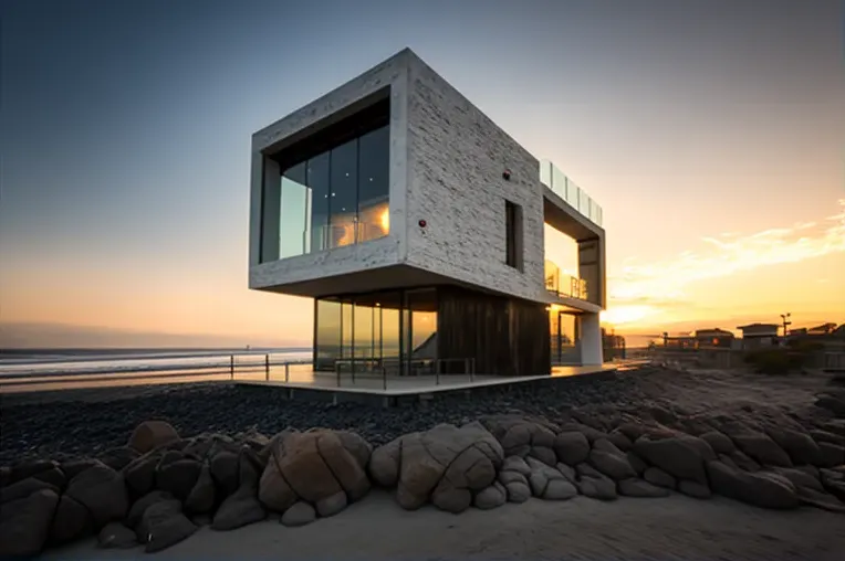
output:
[[692,283],[845,252],[845,199],[838,200],[837,207],[837,213],[820,222],[705,236],[705,250],[686,251],[660,262],[643,264],[636,257],[627,258],[622,271],[608,279],[611,309],[606,320],[658,319],[669,308],[689,305],[684,290]]

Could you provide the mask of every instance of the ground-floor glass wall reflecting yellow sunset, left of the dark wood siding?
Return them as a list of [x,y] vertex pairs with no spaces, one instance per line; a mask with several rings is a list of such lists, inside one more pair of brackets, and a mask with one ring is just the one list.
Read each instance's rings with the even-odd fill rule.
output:
[[315,300],[314,370],[434,373],[436,289]]

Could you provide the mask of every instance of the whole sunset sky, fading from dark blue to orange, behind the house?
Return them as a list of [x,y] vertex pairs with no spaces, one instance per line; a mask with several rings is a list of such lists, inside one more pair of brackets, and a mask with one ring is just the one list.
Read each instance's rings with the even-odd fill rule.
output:
[[310,345],[247,289],[250,136],[405,46],[602,204],[618,332],[845,322],[839,1],[0,7],[7,335]]

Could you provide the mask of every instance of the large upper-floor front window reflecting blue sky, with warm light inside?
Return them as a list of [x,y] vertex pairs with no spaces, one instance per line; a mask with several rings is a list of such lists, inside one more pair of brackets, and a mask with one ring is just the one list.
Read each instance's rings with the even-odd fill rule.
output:
[[[294,257],[386,236],[389,224],[389,125],[282,170],[265,186],[263,227],[279,244],[262,261]],[[277,218],[278,216],[278,218]]]

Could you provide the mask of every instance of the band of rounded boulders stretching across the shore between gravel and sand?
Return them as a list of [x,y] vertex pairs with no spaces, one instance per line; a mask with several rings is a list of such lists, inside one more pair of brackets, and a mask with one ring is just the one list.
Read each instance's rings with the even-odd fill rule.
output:
[[[97,536],[104,548],[140,544],[153,552],[200,526],[226,531],[271,515],[289,527],[319,523],[373,487],[388,489],[404,509],[430,504],[452,514],[531,498],[670,494],[845,514],[843,390],[826,390],[805,414],[748,402],[736,411],[691,411],[634,406],[630,392],[648,391],[620,379],[604,387],[613,392],[620,388],[614,384],[632,384],[615,405],[609,395],[557,407],[535,398],[535,412],[477,416],[471,401],[462,401],[465,411],[453,410],[457,403],[432,405],[429,411],[452,415],[451,424],[413,409],[387,420],[378,416],[390,410],[359,413],[358,423],[373,415],[377,424],[367,434],[378,442],[348,426],[182,437],[164,420],[144,421],[128,442],[95,457],[29,459],[0,469],[0,557],[31,557],[85,536]],[[587,400],[595,388],[584,388]],[[514,400],[493,401],[501,407],[531,401]],[[350,411],[356,410],[338,415]]]

